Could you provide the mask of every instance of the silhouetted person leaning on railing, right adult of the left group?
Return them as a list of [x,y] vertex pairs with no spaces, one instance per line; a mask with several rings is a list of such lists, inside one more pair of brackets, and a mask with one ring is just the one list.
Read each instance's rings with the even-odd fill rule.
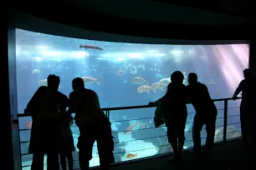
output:
[[93,145],[97,141],[100,169],[108,170],[110,163],[113,163],[114,149],[111,123],[100,108],[98,95],[84,87],[82,78],[74,78],[72,87],[74,92],[70,93],[69,98],[75,112],[74,120],[80,131],[77,144],[80,168],[81,170],[89,169]]

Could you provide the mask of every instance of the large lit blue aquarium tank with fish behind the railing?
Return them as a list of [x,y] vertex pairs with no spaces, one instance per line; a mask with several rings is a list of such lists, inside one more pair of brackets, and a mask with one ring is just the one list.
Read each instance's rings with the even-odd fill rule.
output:
[[[73,37],[60,37],[16,29],[16,70],[18,112],[23,113],[33,93],[46,86],[49,74],[60,77],[59,92],[69,96],[71,81],[82,77],[85,87],[93,89],[100,106],[127,107],[146,105],[166,93],[174,71],[196,72],[199,82],[207,85],[213,99],[232,97],[248,67],[248,44],[172,45],[104,42]],[[239,102],[228,101],[227,138],[241,135]],[[223,140],[223,102],[218,107],[215,142]],[[186,143],[192,148],[192,122],[195,111],[187,105]],[[110,111],[115,137],[115,162],[146,158],[172,152],[166,127],[154,127],[155,107]],[[30,169],[28,154],[31,117],[19,117],[23,169]],[[72,127],[74,143],[79,129]],[[206,132],[202,130],[202,144]],[[96,143],[95,143],[96,145]],[[78,152],[74,152],[74,168],[79,168]],[[94,146],[90,167],[99,165]],[[46,162],[45,162],[46,163]]]

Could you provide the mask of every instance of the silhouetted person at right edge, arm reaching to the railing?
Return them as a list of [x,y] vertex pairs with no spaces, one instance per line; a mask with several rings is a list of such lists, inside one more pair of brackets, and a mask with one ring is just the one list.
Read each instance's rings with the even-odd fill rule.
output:
[[[240,105],[241,133],[243,143],[248,144],[249,125],[255,123],[253,118],[255,117],[255,79],[250,69],[243,70],[243,77],[244,79],[239,83],[233,94],[233,99],[236,99],[238,94],[242,92],[242,102]],[[250,122],[249,119],[253,120],[253,122]]]

